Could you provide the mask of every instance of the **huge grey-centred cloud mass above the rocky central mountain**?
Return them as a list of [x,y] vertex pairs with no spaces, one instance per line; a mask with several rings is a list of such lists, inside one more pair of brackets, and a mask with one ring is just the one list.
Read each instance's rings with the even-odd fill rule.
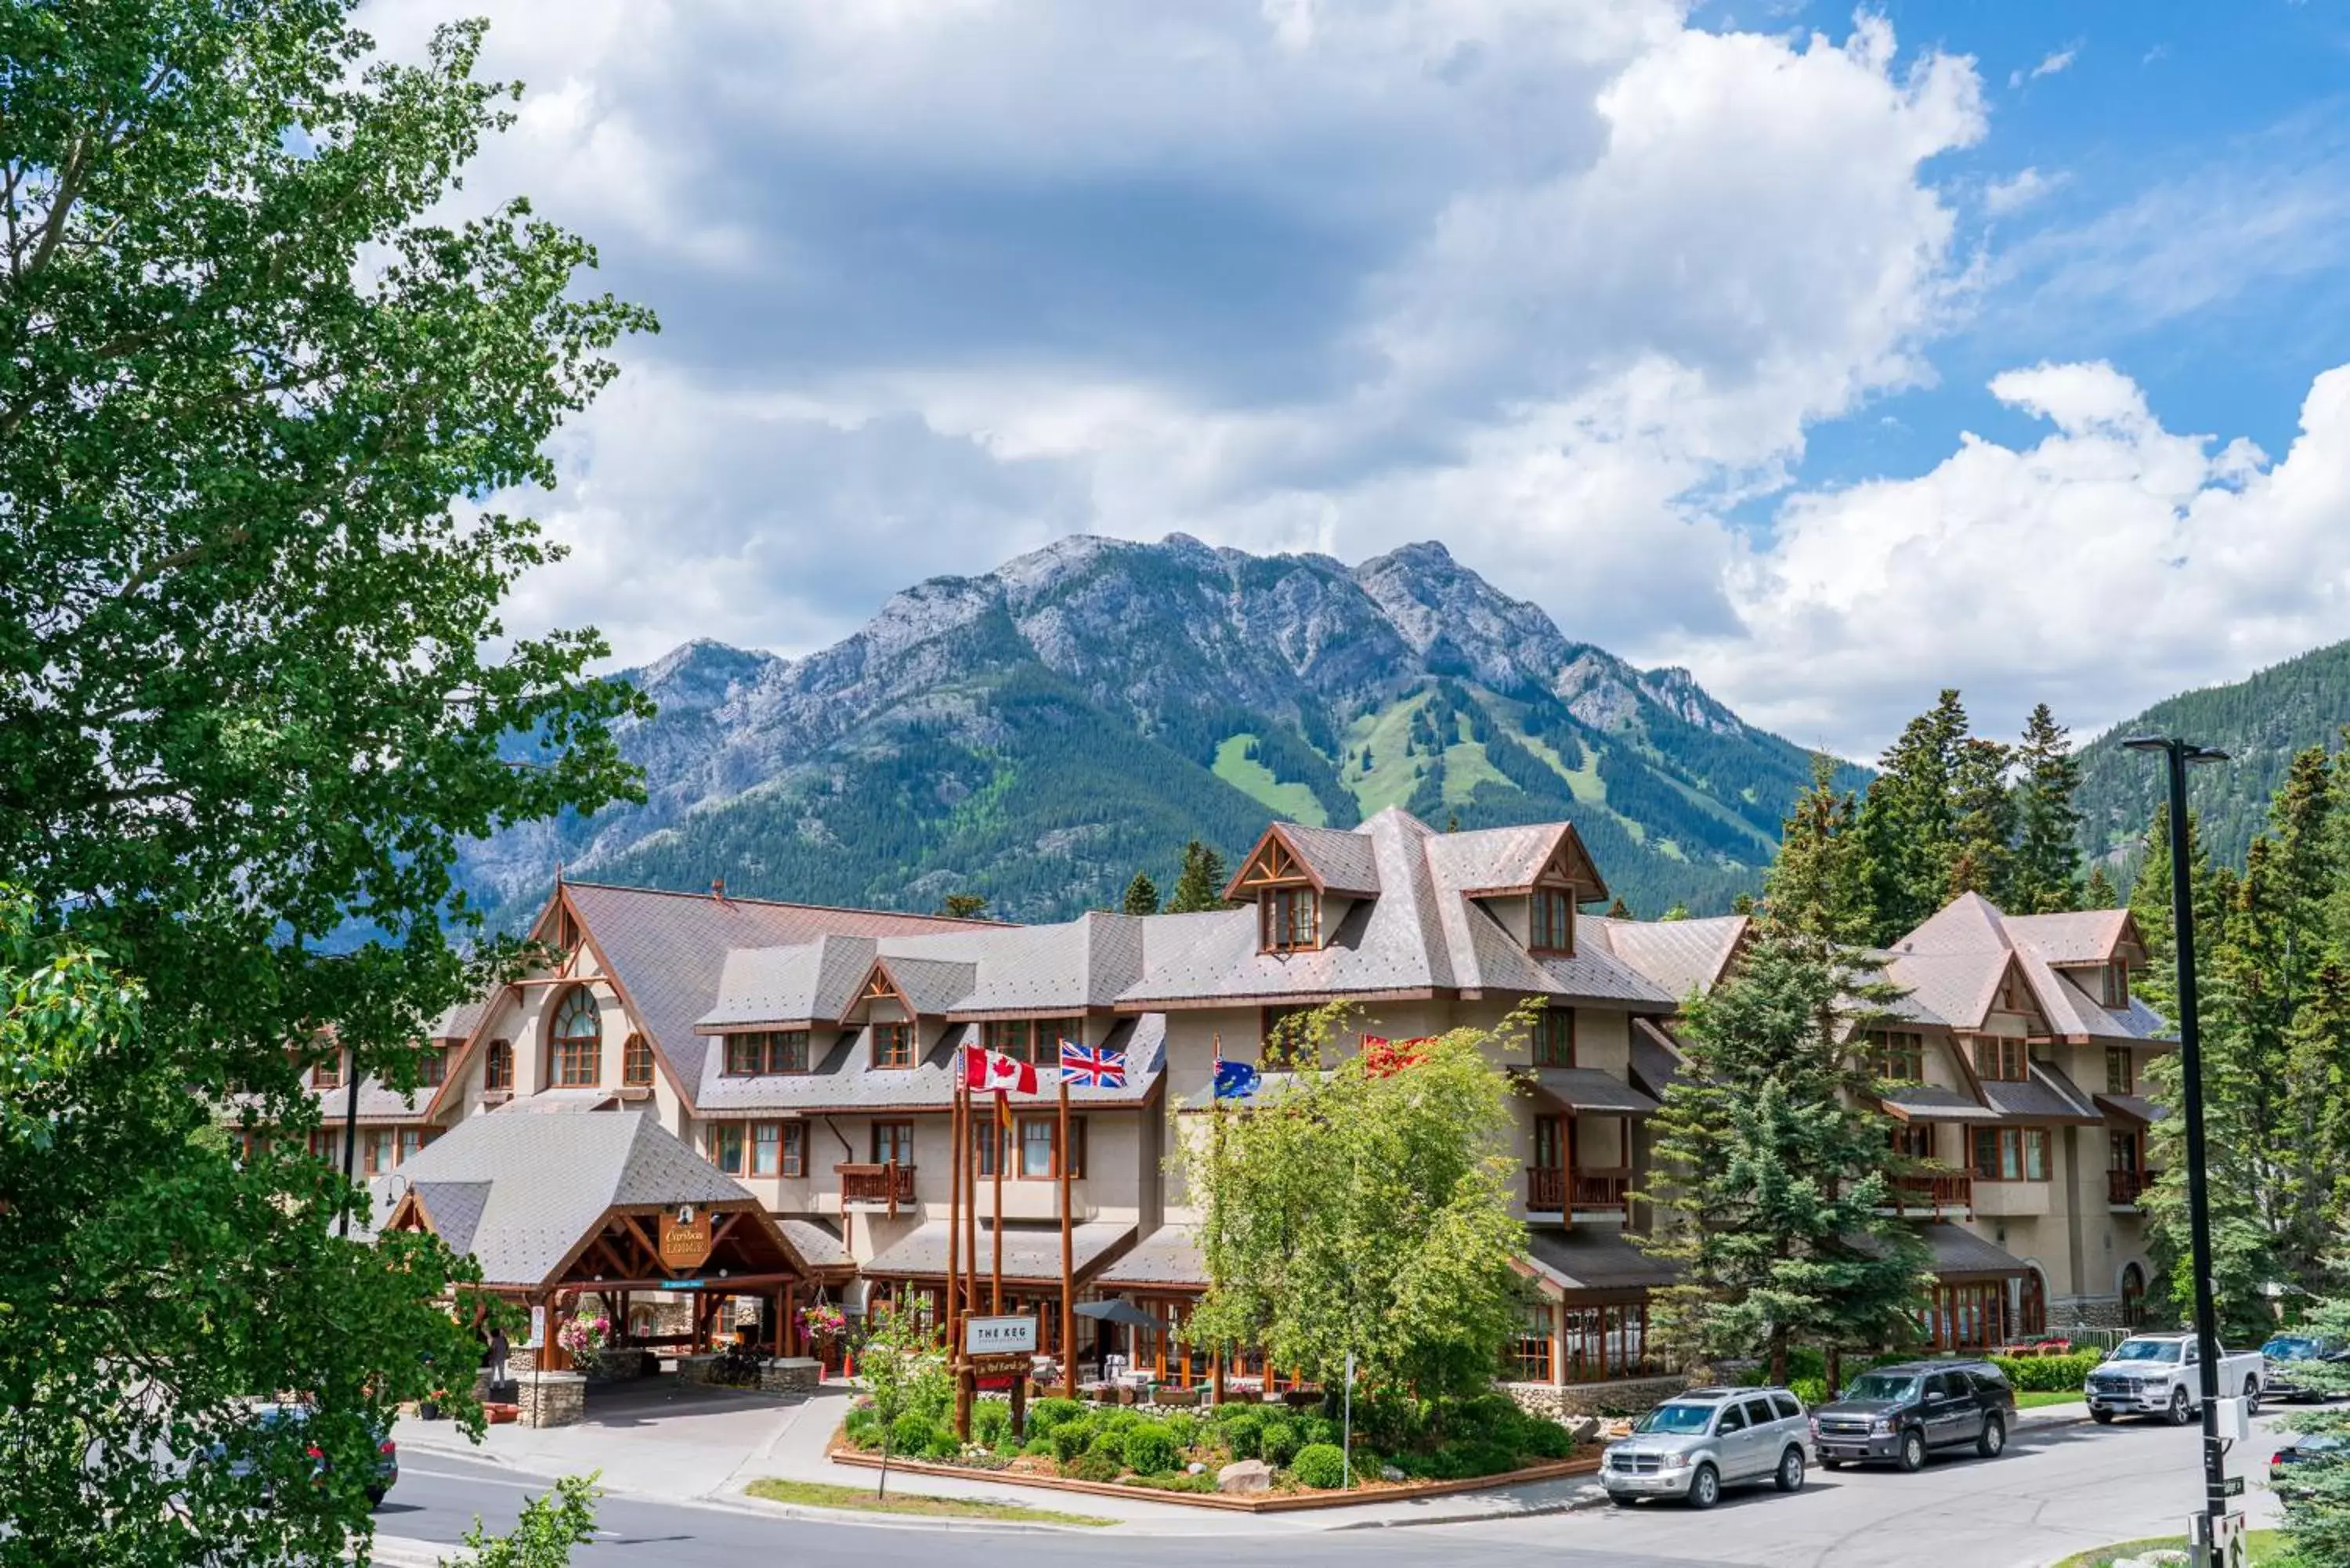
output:
[[[437,0],[371,0],[414,52]],[[1981,80],[1673,0],[489,0],[529,190],[660,339],[510,621],[804,651],[1069,529],[1441,536],[1572,635],[1723,632],[1727,503],[1929,376]]]

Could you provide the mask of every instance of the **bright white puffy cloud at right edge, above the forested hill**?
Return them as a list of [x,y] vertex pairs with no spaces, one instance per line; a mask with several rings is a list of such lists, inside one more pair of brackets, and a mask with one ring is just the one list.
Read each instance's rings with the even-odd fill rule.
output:
[[1788,498],[1732,569],[1741,630],[1692,661],[1725,701],[1845,752],[1936,686],[1990,729],[2044,698],[2087,731],[2350,625],[2350,367],[2310,386],[2282,461],[2164,430],[2110,364],[1990,390],[2054,433]]

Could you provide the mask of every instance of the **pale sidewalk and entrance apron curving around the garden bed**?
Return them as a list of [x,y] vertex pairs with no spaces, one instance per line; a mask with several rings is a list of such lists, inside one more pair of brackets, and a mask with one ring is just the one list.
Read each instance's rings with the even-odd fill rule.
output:
[[[834,1465],[827,1455],[832,1434],[841,1425],[851,1396],[851,1387],[834,1382],[801,1403],[776,1403],[773,1399],[667,1385],[663,1380],[644,1389],[599,1392],[588,1406],[588,1420],[576,1427],[491,1427],[486,1441],[472,1446],[449,1422],[402,1418],[392,1436],[400,1441],[402,1453],[489,1460],[510,1465],[526,1476],[552,1479],[599,1469],[606,1490],[660,1502],[733,1507],[776,1516],[820,1514],[832,1521],[888,1523],[895,1528],[935,1523],[783,1507],[745,1495],[745,1488],[761,1476],[827,1481],[870,1490],[874,1472]],[[1119,1533],[1147,1535],[1292,1535],[1457,1523],[1556,1514],[1605,1502],[1605,1493],[1584,1479],[1542,1481],[1537,1486],[1459,1493],[1419,1502],[1365,1502],[1300,1514],[1224,1514],[1217,1509],[1154,1502],[1140,1493],[1135,1497],[1100,1497],[1001,1481],[964,1481],[959,1476],[900,1472],[891,1472],[888,1483],[893,1493],[975,1497],[1065,1514],[1093,1514],[1119,1521]]]

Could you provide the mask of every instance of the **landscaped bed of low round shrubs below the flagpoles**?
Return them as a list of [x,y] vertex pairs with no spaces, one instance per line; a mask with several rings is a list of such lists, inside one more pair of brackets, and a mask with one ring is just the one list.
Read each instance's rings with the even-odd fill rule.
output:
[[[1246,1509],[1549,1481],[1584,1474],[1598,1462],[1596,1453],[1574,1453],[1565,1427],[1528,1415],[1499,1394],[1441,1406],[1363,1401],[1356,1415],[1351,1490],[1342,1490],[1349,1467],[1340,1422],[1264,1403],[1194,1413],[1039,1399],[1029,1406],[1027,1436],[1015,1439],[1010,1406],[982,1399],[971,1413],[971,1443],[954,1439],[945,1408],[914,1408],[891,1427],[888,1450],[893,1467],[928,1474]],[[841,1425],[834,1458],[879,1467],[881,1446],[877,1413],[860,1406]]]

